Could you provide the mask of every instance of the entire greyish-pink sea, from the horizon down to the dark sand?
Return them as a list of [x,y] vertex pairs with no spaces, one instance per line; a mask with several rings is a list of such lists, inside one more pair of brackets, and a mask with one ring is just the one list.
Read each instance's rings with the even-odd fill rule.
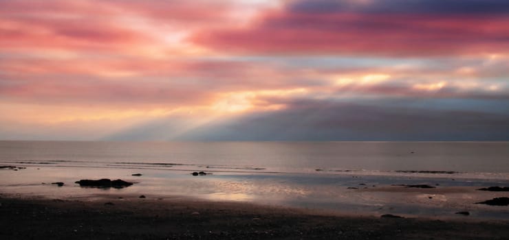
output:
[[[509,142],[0,141],[2,165],[19,167],[0,169],[3,195],[145,195],[426,217],[468,210],[509,219],[508,207],[475,204],[509,197],[476,190],[509,187]],[[200,171],[206,175],[191,174]],[[135,184],[75,183],[100,178]],[[411,184],[433,189],[404,187]]]

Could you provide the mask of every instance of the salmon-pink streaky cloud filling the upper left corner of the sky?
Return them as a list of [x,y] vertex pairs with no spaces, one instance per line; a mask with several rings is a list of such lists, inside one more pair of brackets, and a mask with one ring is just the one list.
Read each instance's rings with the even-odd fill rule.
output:
[[[136,53],[166,37],[231,20],[223,1],[2,1],[1,49]],[[213,9],[213,10],[212,10]]]

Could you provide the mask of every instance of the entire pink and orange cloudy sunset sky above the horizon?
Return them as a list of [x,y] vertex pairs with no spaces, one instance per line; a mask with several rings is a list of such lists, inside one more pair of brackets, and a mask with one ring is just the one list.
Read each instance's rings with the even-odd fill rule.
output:
[[0,0],[0,140],[509,141],[509,1]]

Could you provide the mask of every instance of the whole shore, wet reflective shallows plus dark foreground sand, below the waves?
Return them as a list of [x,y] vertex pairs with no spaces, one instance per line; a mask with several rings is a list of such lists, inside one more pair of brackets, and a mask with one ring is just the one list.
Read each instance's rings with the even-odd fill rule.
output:
[[[73,170],[3,171],[0,239],[509,239],[508,206],[475,204],[506,180]],[[76,183],[103,176],[135,184]]]

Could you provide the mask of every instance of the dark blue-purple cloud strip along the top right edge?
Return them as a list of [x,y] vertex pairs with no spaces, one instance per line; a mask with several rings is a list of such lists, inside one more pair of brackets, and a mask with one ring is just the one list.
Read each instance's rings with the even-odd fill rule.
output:
[[409,14],[507,14],[503,0],[301,0],[289,5],[292,12],[409,13]]

